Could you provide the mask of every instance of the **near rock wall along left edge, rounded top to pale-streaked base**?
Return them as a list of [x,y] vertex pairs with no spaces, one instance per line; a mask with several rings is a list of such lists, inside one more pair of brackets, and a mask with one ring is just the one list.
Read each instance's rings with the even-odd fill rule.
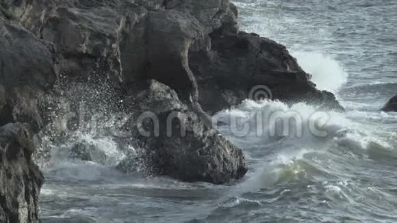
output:
[[0,222],[40,221],[44,179],[31,161],[31,134],[47,122],[44,95],[57,79],[51,51],[51,44],[0,16]]

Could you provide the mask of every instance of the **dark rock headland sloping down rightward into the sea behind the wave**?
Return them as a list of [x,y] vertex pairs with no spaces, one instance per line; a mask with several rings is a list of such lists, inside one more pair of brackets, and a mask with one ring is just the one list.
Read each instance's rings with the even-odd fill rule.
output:
[[332,93],[316,89],[311,76],[283,45],[257,34],[223,28],[209,36],[211,49],[190,53],[190,67],[206,112],[218,112],[244,99],[257,99],[255,88],[268,94],[267,99],[306,101],[324,109],[344,110]]

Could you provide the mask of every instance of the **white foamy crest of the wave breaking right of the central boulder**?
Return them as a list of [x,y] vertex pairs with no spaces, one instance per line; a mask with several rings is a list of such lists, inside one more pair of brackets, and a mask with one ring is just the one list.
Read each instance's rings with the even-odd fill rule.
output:
[[[274,140],[305,138],[301,142],[323,141],[337,131],[352,124],[344,114],[320,112],[313,105],[297,103],[288,107],[280,101],[246,100],[235,109],[216,114],[228,125],[220,127],[226,135],[248,139],[253,144],[271,143]],[[296,141],[296,140],[295,140]]]

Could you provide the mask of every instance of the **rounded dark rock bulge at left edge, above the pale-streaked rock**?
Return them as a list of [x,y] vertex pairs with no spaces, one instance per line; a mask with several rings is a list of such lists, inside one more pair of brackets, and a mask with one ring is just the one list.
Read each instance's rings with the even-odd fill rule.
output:
[[43,120],[45,90],[57,76],[52,46],[0,18],[0,125],[29,122],[37,131]]

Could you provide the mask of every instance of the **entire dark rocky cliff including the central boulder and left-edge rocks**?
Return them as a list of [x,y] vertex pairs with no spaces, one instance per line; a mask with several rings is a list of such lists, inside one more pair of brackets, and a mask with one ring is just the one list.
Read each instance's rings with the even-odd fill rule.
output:
[[[255,86],[267,86],[272,99],[343,108],[333,94],[316,89],[281,44],[239,31],[237,17],[229,0],[3,0],[0,125],[24,122],[41,134],[49,124],[60,133],[73,131],[79,120],[70,114],[87,92],[99,92],[87,106],[94,111],[107,104],[107,112],[130,114],[121,129],[131,134],[120,141],[144,150],[149,174],[211,183],[240,179],[247,171],[242,151],[214,129],[210,115],[241,103]],[[101,99],[103,86],[110,100]],[[158,123],[153,117],[137,122],[145,112]],[[167,122],[170,116],[177,122]],[[0,183],[5,222],[38,219],[42,176],[21,131],[4,138],[13,142],[5,147],[20,154],[10,158],[3,149],[0,174],[12,175]],[[127,156],[117,168],[131,172],[134,165]],[[18,179],[21,187],[11,188]]]

